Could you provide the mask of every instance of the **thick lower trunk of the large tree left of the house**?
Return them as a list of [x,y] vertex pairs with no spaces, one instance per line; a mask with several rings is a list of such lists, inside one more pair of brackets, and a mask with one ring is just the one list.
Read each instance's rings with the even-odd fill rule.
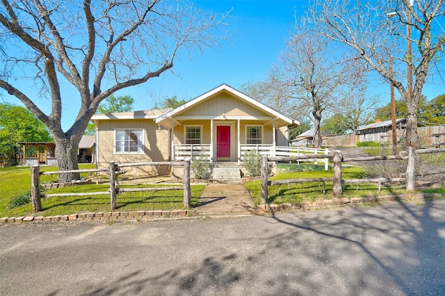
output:
[[[76,140],[76,137],[63,139],[54,138],[54,141],[56,142],[56,158],[60,171],[79,170],[77,152],[79,150],[79,141],[81,137],[77,138],[79,138],[79,140]],[[79,173],[66,173],[58,175],[58,181],[60,183],[78,180],[79,178]]]

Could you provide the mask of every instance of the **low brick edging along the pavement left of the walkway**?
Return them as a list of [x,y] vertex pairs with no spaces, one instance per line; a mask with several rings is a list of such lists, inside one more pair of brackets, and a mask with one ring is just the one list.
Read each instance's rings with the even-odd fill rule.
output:
[[54,222],[54,221],[91,221],[91,220],[149,220],[166,217],[190,217],[195,215],[195,210],[173,211],[131,211],[131,212],[97,212],[76,213],[71,215],[55,216],[19,216],[2,217],[0,223],[6,222]]

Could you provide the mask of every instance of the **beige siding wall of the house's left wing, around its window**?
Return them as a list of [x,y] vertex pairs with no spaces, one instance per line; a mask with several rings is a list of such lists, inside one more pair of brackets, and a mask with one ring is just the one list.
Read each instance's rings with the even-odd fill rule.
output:
[[[99,168],[108,167],[110,161],[115,163],[143,163],[150,161],[169,161],[168,129],[158,129],[153,120],[101,120],[99,122]],[[144,131],[143,153],[116,154],[115,130],[142,129]],[[127,167],[125,170],[131,175],[140,174],[169,174],[167,167]]]

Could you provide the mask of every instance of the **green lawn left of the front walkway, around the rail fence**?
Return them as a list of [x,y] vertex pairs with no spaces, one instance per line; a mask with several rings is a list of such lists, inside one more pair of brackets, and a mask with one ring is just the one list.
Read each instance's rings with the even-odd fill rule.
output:
[[[93,168],[94,165],[79,165],[79,169]],[[42,172],[56,171],[58,167],[40,167]],[[83,174],[87,176],[88,173]],[[42,183],[54,181],[56,175],[40,176]],[[140,188],[154,186],[120,186]],[[181,184],[179,184],[181,186]],[[101,192],[108,190],[108,184],[87,184],[65,188],[46,190],[44,193],[58,192]],[[204,191],[204,185],[191,186],[191,204],[197,206],[198,199]],[[24,204],[11,208],[10,203],[20,195],[31,190],[30,167],[0,168],[0,217],[31,215],[31,204]],[[163,190],[154,192],[126,192],[117,197],[118,211],[136,210],[175,210],[184,208],[184,194],[182,190]],[[42,199],[43,211],[39,215],[69,215],[72,213],[107,212],[111,211],[109,195],[92,195],[82,197],[47,197]]]

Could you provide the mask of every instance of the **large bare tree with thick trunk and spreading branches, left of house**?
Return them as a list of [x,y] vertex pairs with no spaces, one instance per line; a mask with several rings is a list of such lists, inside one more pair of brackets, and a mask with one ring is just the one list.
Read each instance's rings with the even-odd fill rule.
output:
[[[51,131],[60,170],[77,169],[79,141],[99,103],[171,69],[179,54],[216,46],[223,17],[205,15],[187,1],[2,0],[0,88]],[[51,113],[26,94],[22,79],[31,79],[51,99]],[[67,131],[61,126],[64,99],[81,102]]]

